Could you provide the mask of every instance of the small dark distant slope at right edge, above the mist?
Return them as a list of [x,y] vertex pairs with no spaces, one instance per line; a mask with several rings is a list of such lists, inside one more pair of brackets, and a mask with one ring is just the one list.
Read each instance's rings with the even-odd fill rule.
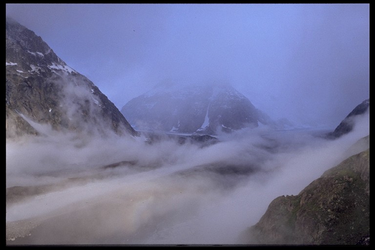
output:
[[361,104],[358,104],[352,112],[350,112],[344,120],[334,129],[333,132],[327,135],[330,139],[336,139],[340,136],[349,133],[354,127],[354,118],[357,115],[364,114],[370,107],[370,99],[363,101]]

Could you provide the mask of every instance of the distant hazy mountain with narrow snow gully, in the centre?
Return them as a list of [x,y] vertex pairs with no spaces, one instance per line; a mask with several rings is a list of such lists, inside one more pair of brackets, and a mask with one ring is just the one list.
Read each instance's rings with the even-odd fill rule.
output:
[[229,84],[158,84],[130,100],[121,112],[139,130],[211,135],[270,121]]

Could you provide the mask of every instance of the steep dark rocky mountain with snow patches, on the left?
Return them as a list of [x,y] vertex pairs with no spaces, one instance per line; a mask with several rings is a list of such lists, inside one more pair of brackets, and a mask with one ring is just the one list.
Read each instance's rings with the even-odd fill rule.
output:
[[41,37],[6,18],[6,137],[53,130],[136,135],[121,112]]

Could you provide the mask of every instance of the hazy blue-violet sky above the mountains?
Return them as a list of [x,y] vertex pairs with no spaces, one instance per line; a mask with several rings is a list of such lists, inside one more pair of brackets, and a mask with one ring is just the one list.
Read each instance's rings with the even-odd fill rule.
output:
[[119,109],[162,81],[231,83],[336,126],[369,98],[369,4],[6,4]]

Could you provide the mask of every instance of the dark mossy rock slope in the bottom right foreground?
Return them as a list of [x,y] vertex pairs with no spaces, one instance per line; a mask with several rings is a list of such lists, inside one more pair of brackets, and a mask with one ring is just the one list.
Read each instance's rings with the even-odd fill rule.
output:
[[[353,155],[296,196],[274,199],[248,231],[250,244],[355,245],[369,242],[370,149]],[[367,236],[367,237],[365,237]]]

